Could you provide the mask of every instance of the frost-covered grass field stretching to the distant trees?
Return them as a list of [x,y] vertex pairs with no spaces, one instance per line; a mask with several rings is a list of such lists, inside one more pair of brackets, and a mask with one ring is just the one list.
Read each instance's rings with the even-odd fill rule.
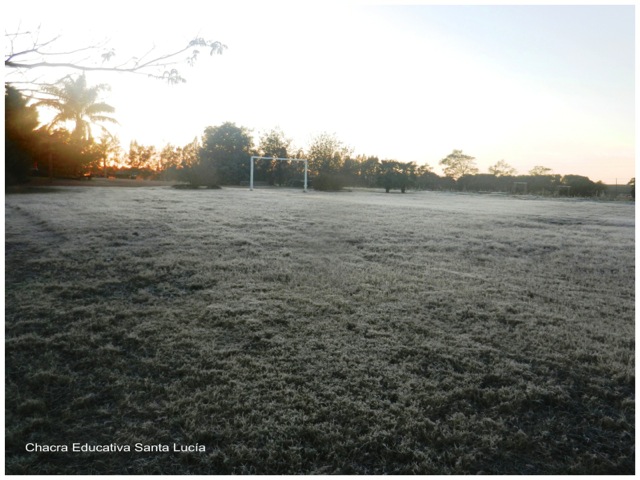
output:
[[633,474],[634,226],[497,195],[7,195],[6,473]]

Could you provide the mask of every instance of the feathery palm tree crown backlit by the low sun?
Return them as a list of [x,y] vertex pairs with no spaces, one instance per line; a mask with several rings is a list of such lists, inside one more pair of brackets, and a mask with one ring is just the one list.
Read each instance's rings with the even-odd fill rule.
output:
[[[58,124],[72,122],[75,124],[72,138],[75,140],[93,140],[91,127],[104,122],[118,123],[109,114],[115,112],[115,108],[104,102],[98,102],[98,96],[103,90],[108,90],[106,84],[93,87],[87,86],[84,74],[75,80],[68,76],[63,78],[58,85],[48,85],[43,92],[52,98],[39,100],[34,105],[37,107],[49,107],[57,110],[57,115],[49,124],[49,128]],[[102,130],[106,131],[102,125]]]

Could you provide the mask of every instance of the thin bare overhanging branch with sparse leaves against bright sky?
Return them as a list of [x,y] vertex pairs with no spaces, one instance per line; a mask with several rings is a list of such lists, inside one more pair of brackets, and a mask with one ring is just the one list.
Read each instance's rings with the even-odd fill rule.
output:
[[122,58],[109,42],[86,45],[73,50],[57,48],[60,36],[41,39],[40,28],[34,31],[5,33],[5,79],[19,89],[36,93],[43,71],[102,71],[144,75],[165,80],[168,83],[184,83],[186,80],[177,66],[193,66],[201,49],[210,55],[222,54],[227,46],[219,41],[195,37],[186,45],[170,51],[157,51],[152,47],[140,55]]

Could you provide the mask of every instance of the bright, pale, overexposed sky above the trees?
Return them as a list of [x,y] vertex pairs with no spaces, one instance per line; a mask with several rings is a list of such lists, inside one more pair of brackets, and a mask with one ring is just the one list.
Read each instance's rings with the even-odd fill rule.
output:
[[185,145],[229,121],[256,143],[273,128],[303,149],[330,133],[354,155],[436,173],[456,149],[481,173],[505,160],[520,174],[635,176],[633,4],[12,3],[5,31],[40,25],[61,48],[109,39],[125,59],[195,36],[227,45],[181,66],[186,84],[87,74],[111,85],[125,149]]

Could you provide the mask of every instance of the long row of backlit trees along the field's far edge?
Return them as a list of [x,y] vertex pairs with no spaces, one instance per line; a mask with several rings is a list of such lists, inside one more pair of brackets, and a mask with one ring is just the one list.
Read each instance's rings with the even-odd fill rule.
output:
[[[86,90],[90,87],[81,80],[83,77],[69,81],[67,86],[84,89],[84,97],[87,97]],[[66,104],[57,106],[61,112],[66,112]],[[111,108],[103,103],[98,106],[103,111]],[[273,129],[263,133],[255,145],[249,129],[231,122],[205,128],[201,139],[196,137],[184,146],[168,144],[156,149],[133,141],[128,151],[124,151],[117,138],[108,134],[98,140],[93,138],[89,125],[91,118],[76,121],[72,130],[55,122],[38,128],[37,107],[37,104],[29,105],[17,90],[5,87],[5,178],[8,183],[23,182],[30,175],[40,175],[150,178],[182,182],[192,187],[243,185],[249,180],[250,157],[262,156],[307,159],[309,184],[316,190],[368,187],[403,193],[420,189],[597,196],[607,188],[584,176],[552,174],[542,166],[535,167],[527,175],[517,175],[504,160],[491,166],[490,173],[482,174],[476,167],[475,158],[460,150],[454,150],[440,160],[444,171],[444,176],[440,176],[429,165],[353,155],[335,135],[327,133],[317,135],[306,149],[302,149],[294,147],[280,129]],[[65,114],[74,118],[68,112]],[[104,121],[105,115],[101,115],[100,120]],[[109,120],[113,121],[112,118]],[[301,187],[303,175],[304,164],[298,161],[259,159],[254,166],[256,184]]]

